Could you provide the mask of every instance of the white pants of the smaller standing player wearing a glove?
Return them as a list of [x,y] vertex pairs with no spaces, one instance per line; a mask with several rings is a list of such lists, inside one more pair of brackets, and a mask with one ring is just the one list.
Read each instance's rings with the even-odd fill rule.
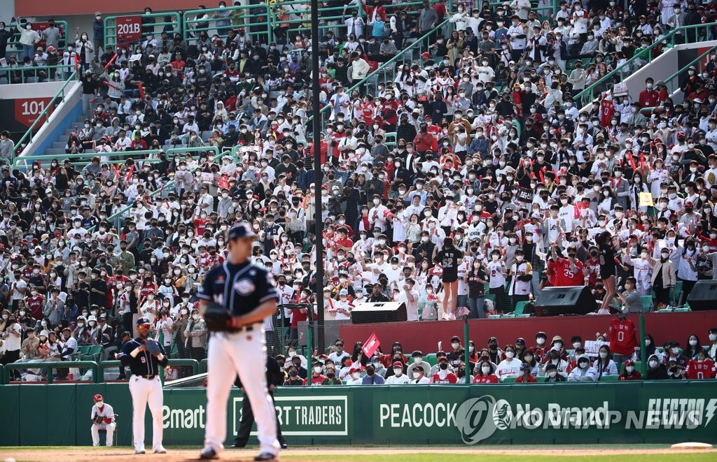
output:
[[136,450],[144,449],[144,413],[149,404],[152,413],[152,448],[162,446],[162,384],[159,376],[151,380],[132,375],[130,378],[132,395],[132,434]]

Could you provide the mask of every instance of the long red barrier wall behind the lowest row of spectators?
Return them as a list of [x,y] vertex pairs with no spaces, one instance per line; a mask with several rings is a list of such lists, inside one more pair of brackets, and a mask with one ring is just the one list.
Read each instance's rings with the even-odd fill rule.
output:
[[[612,315],[589,316],[555,316],[544,318],[506,318],[506,319],[475,319],[468,321],[469,338],[475,341],[477,348],[488,345],[488,338],[495,336],[502,348],[508,343],[515,343],[516,338],[526,339],[528,346],[535,345],[535,335],[543,331],[548,341],[554,335],[560,335],[566,348],[571,348],[570,338],[580,335],[583,340],[595,340],[595,333],[607,333]],[[639,328],[638,315],[628,318]],[[645,332],[652,335],[657,346],[667,340],[677,340],[683,346],[691,334],[696,334],[703,345],[709,343],[707,331],[717,327],[717,311],[694,311],[690,313],[648,313],[645,315]],[[353,343],[365,342],[372,332],[381,341],[384,353],[394,341],[403,345],[404,352],[422,350],[424,354],[435,353],[438,342],[443,342],[444,350],[450,348],[450,338],[458,335],[463,338],[462,321],[421,321],[416,323],[382,323],[382,324],[343,324],[340,328],[341,338],[346,342],[346,349],[351,351]],[[609,339],[608,339],[609,340]],[[326,342],[332,339],[327,338]]]

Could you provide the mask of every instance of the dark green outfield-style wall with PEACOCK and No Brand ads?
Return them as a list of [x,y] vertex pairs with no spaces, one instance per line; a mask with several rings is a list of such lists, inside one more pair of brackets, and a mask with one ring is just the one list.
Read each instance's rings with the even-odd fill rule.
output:
[[[282,387],[275,398],[289,444],[463,446],[470,435],[478,435],[478,444],[717,443],[716,390],[714,380],[365,385]],[[118,414],[118,445],[129,446],[132,403],[126,383],[2,385],[0,446],[90,446],[95,393]],[[473,427],[478,433],[461,429],[457,418],[471,398],[467,404],[478,411]],[[242,395],[232,388],[227,444],[241,407]],[[146,442],[149,416],[147,411]],[[165,389],[163,423],[166,446],[200,448],[204,388]],[[252,436],[250,444],[256,443]]]

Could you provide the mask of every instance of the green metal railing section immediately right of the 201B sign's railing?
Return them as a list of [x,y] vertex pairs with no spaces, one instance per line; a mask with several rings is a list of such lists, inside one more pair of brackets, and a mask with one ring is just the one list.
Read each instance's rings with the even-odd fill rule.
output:
[[[219,12],[229,11],[229,16],[216,17]],[[196,19],[197,15],[207,14],[209,19]],[[264,16],[263,21],[258,19]],[[189,18],[194,19],[189,19]],[[257,19],[257,21],[254,21]],[[217,21],[230,21],[234,25],[231,26],[219,26],[217,27]],[[227,6],[226,8],[209,8],[209,9],[195,9],[186,11],[183,16],[182,38],[185,43],[189,44],[191,41],[196,41],[199,38],[199,33],[206,32],[210,37],[209,31],[217,31],[220,35],[224,35],[229,29],[237,29],[239,27],[250,28],[246,31],[248,36],[267,36],[267,44],[272,41],[272,27],[271,27],[271,7],[267,4],[256,4],[256,5],[240,5],[240,6]],[[201,26],[201,24],[207,24]],[[261,30],[252,30],[252,29]]]

